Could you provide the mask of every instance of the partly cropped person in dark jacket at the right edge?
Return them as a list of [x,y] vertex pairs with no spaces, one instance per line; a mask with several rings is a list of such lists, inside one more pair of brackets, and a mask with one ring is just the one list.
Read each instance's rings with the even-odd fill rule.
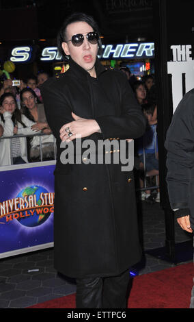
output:
[[[171,209],[183,230],[194,229],[194,89],[180,101],[165,142],[167,187]],[[194,308],[194,286],[191,306]]]

